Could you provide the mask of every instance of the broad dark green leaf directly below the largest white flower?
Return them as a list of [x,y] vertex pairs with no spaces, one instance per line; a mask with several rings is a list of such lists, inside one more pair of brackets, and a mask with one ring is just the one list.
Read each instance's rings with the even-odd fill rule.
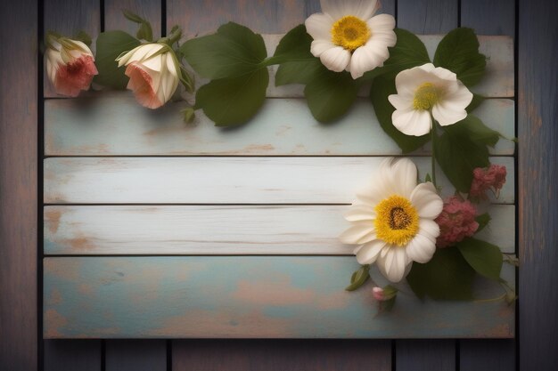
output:
[[439,248],[430,262],[413,263],[406,277],[414,294],[440,300],[471,300],[474,270],[458,249]]

